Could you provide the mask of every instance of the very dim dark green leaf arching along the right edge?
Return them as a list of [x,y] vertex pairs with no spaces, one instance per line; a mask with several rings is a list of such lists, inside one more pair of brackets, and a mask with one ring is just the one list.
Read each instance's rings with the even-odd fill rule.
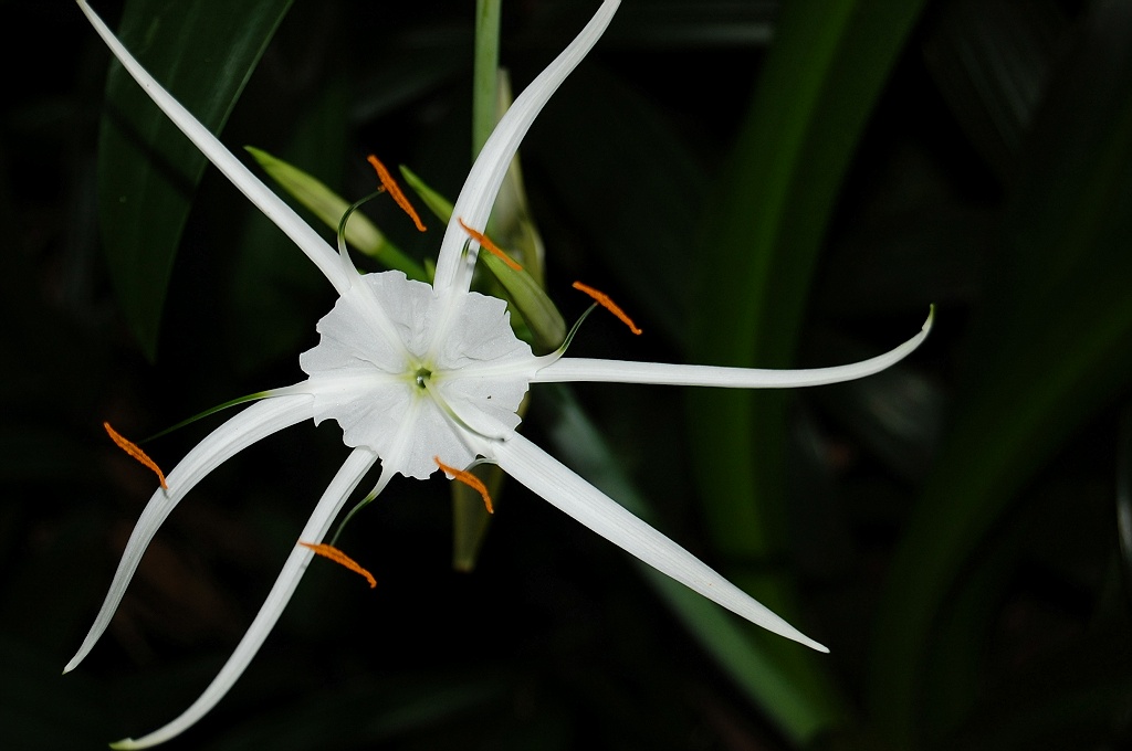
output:
[[949,593],[1034,473],[1132,376],[1132,7],[1097,3],[1080,28],[1020,157],[953,424],[878,613],[871,700],[897,748],[923,732]]

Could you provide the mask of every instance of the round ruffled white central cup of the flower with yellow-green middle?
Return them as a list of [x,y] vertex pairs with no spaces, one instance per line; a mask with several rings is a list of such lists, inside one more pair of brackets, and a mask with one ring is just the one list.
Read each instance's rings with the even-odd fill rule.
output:
[[438,295],[400,271],[357,277],[317,330],[295,389],[314,394],[315,422],[334,420],[348,446],[420,480],[435,457],[465,467],[473,443],[507,438],[539,362],[503,300]]

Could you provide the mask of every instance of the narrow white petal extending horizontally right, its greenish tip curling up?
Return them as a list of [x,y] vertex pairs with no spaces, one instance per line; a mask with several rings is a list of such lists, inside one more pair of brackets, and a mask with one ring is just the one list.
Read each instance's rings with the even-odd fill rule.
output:
[[933,317],[934,312],[929,313],[919,334],[895,349],[850,365],[814,368],[812,370],[760,370],[755,368],[717,368],[713,365],[561,357],[535,373],[531,382],[601,381],[604,383],[717,386],[734,389],[784,389],[840,383],[878,373],[907,357],[927,338],[928,331],[932,329]]

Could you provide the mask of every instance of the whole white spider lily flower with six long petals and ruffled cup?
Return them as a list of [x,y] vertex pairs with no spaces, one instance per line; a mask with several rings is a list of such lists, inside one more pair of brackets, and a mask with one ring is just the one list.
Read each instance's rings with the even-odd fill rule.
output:
[[[319,234],[242,165],[129,54],[78,0],[97,33],[153,101],[260,210],[315,262],[338,292],[318,322],[321,338],[300,356],[308,378],[269,391],[214,430],[169,474],[138,519],[94,625],[65,672],[75,668],[105,631],[157,528],[209,472],[247,446],[307,418],[336,421],[352,452],[327,486],[300,539],[320,542],[351,492],[375,464],[381,474],[370,498],[396,474],[426,478],[475,461],[498,464],[555,507],[645,563],[741,618],[822,651],[825,647],[755,602],[675,542],[516,432],[531,383],[608,381],[722,388],[817,386],[869,376],[912,352],[931,316],[910,340],[878,357],[839,368],[767,371],[561,356],[535,356],[513,333],[506,303],[469,290],[479,245],[460,222],[482,232],[507,166],[550,95],[604,32],[619,0],[604,0],[578,36],[515,100],[484,145],[456,200],[440,244],[432,285],[400,271],[359,274]],[[449,472],[449,474],[453,474]],[[266,639],[314,553],[297,545],[235,653],[180,717],[115,748],[146,748],[185,731],[232,687]]]

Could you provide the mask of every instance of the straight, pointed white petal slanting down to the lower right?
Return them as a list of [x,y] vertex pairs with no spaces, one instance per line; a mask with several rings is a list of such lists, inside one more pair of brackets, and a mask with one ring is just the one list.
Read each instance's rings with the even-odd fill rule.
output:
[[507,441],[492,443],[489,450],[491,458],[508,475],[661,573],[667,573],[752,623],[807,647],[829,651],[692,553],[626,511],[521,433],[515,433]]

